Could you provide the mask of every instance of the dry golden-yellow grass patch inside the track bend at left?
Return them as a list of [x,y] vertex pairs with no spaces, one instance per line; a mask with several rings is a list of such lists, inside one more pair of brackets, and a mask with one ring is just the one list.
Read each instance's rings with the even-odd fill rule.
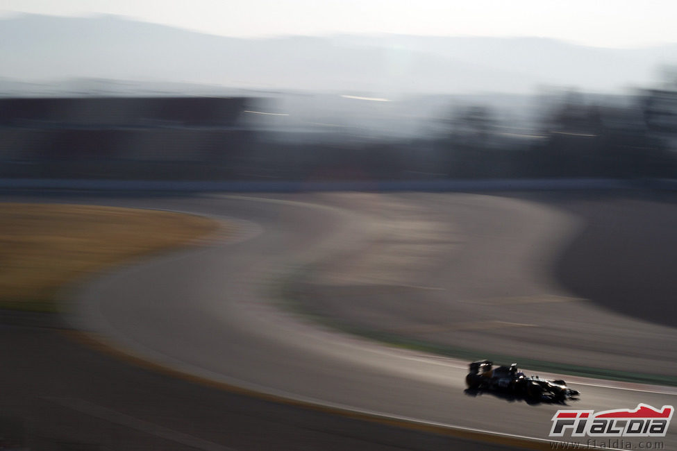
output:
[[54,311],[65,283],[218,228],[201,216],[156,210],[0,203],[0,308]]

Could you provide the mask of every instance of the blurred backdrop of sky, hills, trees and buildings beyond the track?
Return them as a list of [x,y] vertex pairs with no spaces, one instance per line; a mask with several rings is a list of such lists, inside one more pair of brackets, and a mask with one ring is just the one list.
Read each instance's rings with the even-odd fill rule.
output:
[[6,178],[667,178],[676,169],[677,33],[665,2],[3,8]]

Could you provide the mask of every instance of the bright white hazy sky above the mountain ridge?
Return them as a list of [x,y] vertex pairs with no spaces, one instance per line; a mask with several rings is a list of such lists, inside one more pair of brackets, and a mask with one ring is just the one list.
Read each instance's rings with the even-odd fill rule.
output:
[[123,15],[227,36],[542,36],[594,46],[677,42],[674,0],[2,0],[0,12]]

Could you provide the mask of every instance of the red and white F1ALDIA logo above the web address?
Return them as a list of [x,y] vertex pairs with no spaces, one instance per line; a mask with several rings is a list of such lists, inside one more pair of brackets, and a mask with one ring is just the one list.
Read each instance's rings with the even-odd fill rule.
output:
[[636,409],[558,410],[552,418],[551,437],[665,437],[674,407],[660,409],[638,404]]

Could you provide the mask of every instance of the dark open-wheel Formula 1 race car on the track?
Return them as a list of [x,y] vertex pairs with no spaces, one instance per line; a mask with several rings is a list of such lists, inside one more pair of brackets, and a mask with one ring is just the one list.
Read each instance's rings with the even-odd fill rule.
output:
[[569,389],[561,379],[544,380],[538,376],[526,377],[517,369],[517,364],[494,367],[493,362],[489,360],[472,362],[465,382],[471,390],[505,391],[535,401],[565,402],[576,399],[579,395],[578,391]]

